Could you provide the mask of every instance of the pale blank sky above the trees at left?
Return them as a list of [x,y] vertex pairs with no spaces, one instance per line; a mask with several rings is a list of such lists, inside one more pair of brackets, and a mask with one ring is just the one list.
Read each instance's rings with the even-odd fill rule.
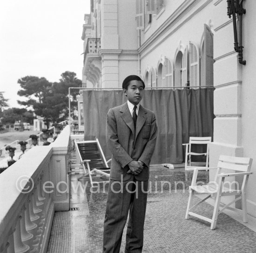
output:
[[25,76],[58,82],[73,71],[82,79],[85,13],[90,0],[0,1],[0,92],[10,107],[20,107]]

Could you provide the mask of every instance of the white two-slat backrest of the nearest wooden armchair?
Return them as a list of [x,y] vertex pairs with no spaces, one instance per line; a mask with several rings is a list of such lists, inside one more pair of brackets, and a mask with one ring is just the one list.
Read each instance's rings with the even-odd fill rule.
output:
[[251,169],[252,158],[249,157],[235,157],[235,156],[220,156],[217,165],[220,169],[232,169],[235,171],[248,172]]

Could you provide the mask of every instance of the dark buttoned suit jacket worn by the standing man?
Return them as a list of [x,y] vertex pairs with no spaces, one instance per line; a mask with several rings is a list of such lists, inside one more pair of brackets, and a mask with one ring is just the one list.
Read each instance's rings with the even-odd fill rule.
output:
[[138,181],[149,178],[149,162],[155,149],[157,126],[155,114],[140,105],[136,131],[128,109],[128,104],[122,104],[108,111],[106,141],[112,152],[110,179],[127,181],[128,163],[132,160],[144,162],[144,169],[135,175]]

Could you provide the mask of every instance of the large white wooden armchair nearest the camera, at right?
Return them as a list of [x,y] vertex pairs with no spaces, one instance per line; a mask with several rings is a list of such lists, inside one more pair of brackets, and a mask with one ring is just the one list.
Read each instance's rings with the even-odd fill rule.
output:
[[[189,169],[194,170],[192,177],[191,186],[189,187],[189,202],[186,211],[185,219],[189,219],[189,216],[195,216],[204,221],[211,223],[211,229],[215,229],[218,214],[222,213],[223,210],[228,208],[230,205],[234,204],[238,200],[242,200],[242,209],[243,209],[243,222],[248,222],[247,219],[247,208],[246,208],[246,186],[248,182],[248,177],[252,172],[250,172],[252,164],[252,158],[247,157],[234,157],[234,156],[220,156],[219,162],[216,168],[208,169],[217,169],[215,180],[209,182],[207,185],[197,185],[196,177],[198,170],[203,170],[203,168]],[[223,171],[224,170],[224,171]],[[234,173],[234,171],[236,173]],[[235,181],[237,178],[235,176],[243,176],[243,182],[239,186],[238,182]],[[230,177],[234,177],[233,181],[230,181]],[[229,181],[225,179],[229,178]],[[233,178],[231,178],[233,179]],[[236,186],[236,187],[234,187]],[[195,194],[207,194],[207,196],[201,201],[197,202],[192,206],[193,197]],[[206,201],[210,196],[215,198],[215,204],[213,209],[212,218],[209,219],[200,214],[195,214],[191,210],[198,206],[203,201]],[[234,200],[228,204],[222,204],[222,196],[234,196]],[[219,210],[220,204],[223,206]]]

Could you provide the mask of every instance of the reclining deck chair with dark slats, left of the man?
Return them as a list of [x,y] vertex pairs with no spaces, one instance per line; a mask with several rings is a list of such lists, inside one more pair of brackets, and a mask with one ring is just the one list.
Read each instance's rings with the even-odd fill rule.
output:
[[108,162],[103,154],[99,140],[95,141],[81,141],[75,142],[76,149],[80,157],[81,165],[83,166],[85,175],[78,178],[88,177],[90,179],[92,187],[99,182],[108,181],[93,181],[93,178],[101,176],[107,176],[109,178],[110,168],[108,167]]

